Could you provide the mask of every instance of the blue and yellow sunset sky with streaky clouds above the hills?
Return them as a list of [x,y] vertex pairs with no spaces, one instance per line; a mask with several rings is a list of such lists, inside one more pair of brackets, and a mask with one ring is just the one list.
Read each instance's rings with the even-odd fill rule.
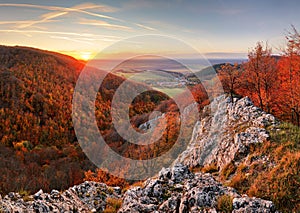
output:
[[120,40],[153,34],[209,58],[239,58],[258,41],[279,53],[291,25],[300,27],[299,11],[296,0],[0,0],[0,44],[87,60]]

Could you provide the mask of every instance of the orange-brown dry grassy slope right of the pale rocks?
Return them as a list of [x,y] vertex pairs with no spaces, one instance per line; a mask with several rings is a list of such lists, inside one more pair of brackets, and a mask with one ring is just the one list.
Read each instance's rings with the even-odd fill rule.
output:
[[[251,150],[253,161],[237,168],[228,164],[220,174],[221,180],[240,193],[272,200],[282,212],[300,209],[300,129],[283,123],[280,130],[270,131],[271,139]],[[256,161],[265,156],[266,163]],[[271,164],[270,164],[271,163]],[[273,166],[272,166],[273,165]]]

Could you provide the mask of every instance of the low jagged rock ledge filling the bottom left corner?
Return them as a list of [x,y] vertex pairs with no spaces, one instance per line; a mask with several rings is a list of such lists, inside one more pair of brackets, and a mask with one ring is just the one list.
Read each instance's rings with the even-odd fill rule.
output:
[[86,181],[64,192],[52,190],[48,194],[40,190],[26,201],[11,192],[0,199],[0,212],[101,212],[108,197],[120,198],[120,188]]

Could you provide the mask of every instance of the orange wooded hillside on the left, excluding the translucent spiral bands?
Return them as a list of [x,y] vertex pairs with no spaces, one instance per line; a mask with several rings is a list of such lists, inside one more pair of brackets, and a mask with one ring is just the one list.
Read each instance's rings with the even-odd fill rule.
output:
[[[82,182],[84,171],[95,166],[81,151],[71,113],[85,64],[58,53],[6,46],[0,47],[0,64],[0,193],[65,189]],[[110,102],[123,80],[107,75],[96,102],[99,130],[111,146],[119,143],[112,137]],[[144,93],[134,100],[133,120],[167,99],[159,92],[152,97]]]

